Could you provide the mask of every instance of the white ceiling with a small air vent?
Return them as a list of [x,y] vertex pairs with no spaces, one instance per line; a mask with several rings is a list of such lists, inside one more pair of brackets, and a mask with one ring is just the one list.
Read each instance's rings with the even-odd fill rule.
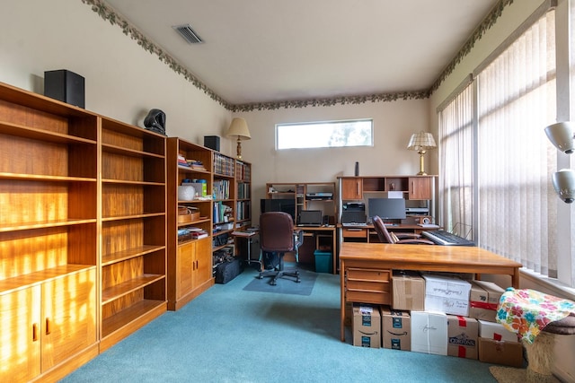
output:
[[[498,0],[105,0],[231,104],[427,91]],[[173,25],[190,23],[190,45]]]

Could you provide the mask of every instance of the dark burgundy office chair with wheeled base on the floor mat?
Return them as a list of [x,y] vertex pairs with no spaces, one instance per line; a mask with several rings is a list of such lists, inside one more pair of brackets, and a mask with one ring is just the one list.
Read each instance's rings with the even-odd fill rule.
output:
[[[266,253],[277,254],[279,257],[279,264],[271,270],[261,271],[259,278],[264,276],[271,276],[270,284],[275,285],[278,278],[290,276],[296,278],[296,282],[301,282],[299,279],[299,271],[297,269],[284,269],[284,254],[287,252],[296,252],[297,262],[297,248],[303,243],[304,237],[301,231],[294,231],[294,222],[291,215],[282,212],[262,213],[260,216],[260,247],[262,255]],[[273,265],[272,265],[273,266]]]

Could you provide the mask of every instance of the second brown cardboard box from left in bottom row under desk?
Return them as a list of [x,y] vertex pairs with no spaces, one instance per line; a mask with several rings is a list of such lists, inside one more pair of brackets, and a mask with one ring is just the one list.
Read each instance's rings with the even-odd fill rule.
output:
[[381,308],[382,339],[384,348],[411,350],[411,316],[408,311]]

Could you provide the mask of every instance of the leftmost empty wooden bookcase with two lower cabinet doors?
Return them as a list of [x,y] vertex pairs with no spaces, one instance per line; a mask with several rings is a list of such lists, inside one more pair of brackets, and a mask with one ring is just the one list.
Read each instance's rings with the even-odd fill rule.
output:
[[0,84],[0,380],[98,353],[98,121]]

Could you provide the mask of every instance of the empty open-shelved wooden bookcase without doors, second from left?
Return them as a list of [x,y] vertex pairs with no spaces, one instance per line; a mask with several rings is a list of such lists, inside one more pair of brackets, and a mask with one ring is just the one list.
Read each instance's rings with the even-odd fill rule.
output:
[[102,118],[105,350],[166,309],[165,137]]

